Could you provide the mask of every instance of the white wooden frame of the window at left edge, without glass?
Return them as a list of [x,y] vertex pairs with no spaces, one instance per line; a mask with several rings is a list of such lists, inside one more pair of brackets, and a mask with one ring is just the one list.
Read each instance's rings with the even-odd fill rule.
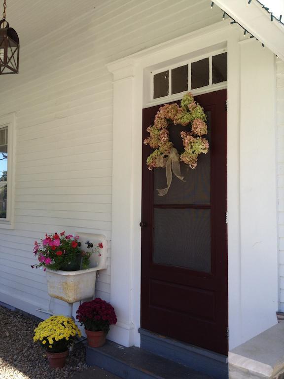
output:
[[15,198],[15,114],[5,114],[0,116],[0,129],[7,127],[7,213],[6,218],[0,218],[0,229],[14,228],[14,198]]

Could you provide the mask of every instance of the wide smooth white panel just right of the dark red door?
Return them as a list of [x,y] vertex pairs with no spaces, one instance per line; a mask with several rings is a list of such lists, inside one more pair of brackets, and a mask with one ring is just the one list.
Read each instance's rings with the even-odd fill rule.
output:
[[240,43],[241,336],[277,323],[278,248],[275,55]]

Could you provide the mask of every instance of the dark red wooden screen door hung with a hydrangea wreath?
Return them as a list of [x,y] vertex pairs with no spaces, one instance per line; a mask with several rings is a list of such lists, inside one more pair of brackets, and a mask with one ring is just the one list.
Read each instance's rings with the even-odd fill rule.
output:
[[[149,171],[152,150],[142,148],[141,326],[227,354],[227,91],[195,99],[207,114],[210,150],[194,170],[180,164],[185,182],[173,176],[158,196],[166,172]],[[143,110],[143,139],[159,108]],[[176,147],[179,132],[170,136]]]

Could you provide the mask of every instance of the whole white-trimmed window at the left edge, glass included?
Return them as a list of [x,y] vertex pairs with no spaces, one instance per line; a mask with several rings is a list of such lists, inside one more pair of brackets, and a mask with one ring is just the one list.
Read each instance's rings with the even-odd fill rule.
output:
[[0,228],[12,228],[14,115],[0,116]]

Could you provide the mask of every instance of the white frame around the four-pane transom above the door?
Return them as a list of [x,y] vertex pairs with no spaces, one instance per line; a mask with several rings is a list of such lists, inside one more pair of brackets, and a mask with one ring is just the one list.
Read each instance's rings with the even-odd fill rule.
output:
[[[216,49],[210,53],[207,54],[202,54],[199,56],[196,56],[192,59],[187,59],[184,61],[180,61],[176,64],[169,65],[169,66],[164,66],[162,68],[159,68],[158,70],[153,70],[150,73],[150,102],[148,103],[150,106],[155,105],[155,104],[161,104],[161,103],[167,103],[169,101],[175,101],[177,99],[180,99],[186,92],[190,91],[193,93],[193,95],[199,95],[202,93],[206,92],[212,92],[212,91],[217,91],[219,89],[224,89],[227,88],[227,80],[222,81],[219,83],[213,84],[212,82],[212,57],[218,54],[222,53],[227,53],[227,48],[221,48],[221,49]],[[199,87],[199,88],[194,88],[191,89],[191,63],[193,62],[198,62],[202,59],[209,58],[209,85],[206,85],[204,87]],[[179,93],[174,93],[172,94],[172,70],[176,69],[181,66],[188,65],[188,87],[186,91],[179,92]],[[163,97],[158,97],[154,98],[154,75],[162,73],[164,71],[169,70],[169,94],[167,96]]]

